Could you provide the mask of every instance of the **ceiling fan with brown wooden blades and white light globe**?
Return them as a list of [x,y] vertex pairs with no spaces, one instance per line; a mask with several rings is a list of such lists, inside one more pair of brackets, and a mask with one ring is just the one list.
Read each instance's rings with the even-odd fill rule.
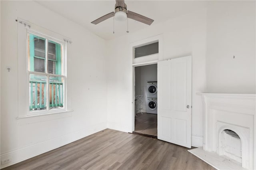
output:
[[124,20],[126,20],[126,18],[130,18],[130,19],[133,19],[133,20],[136,20],[136,21],[142,22],[144,24],[148,24],[148,25],[151,25],[152,22],[154,21],[150,18],[147,18],[147,17],[137,14],[135,12],[128,11],[127,6],[124,3],[124,0],[116,0],[115,12],[110,12],[109,14],[106,14],[106,15],[98,18],[97,20],[94,20],[91,23],[96,25],[108,18],[113,17],[113,16],[115,16],[115,19],[118,21],[124,21]]

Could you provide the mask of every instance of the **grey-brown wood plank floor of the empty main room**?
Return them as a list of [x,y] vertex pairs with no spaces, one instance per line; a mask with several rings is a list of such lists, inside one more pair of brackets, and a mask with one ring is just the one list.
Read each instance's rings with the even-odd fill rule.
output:
[[214,170],[188,148],[106,129],[4,170]]

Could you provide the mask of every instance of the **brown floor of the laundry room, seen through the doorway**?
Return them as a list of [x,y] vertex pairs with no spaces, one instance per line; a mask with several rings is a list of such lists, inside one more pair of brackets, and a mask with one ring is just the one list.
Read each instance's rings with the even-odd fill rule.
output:
[[157,136],[157,114],[138,113],[135,117],[134,132]]

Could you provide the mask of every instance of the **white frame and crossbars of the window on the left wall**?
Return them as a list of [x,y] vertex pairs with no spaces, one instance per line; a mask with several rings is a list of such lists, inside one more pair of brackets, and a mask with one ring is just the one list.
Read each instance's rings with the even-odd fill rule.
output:
[[[62,51],[61,53],[63,54],[63,58],[62,58],[62,69],[60,69],[60,73],[62,74],[52,74],[52,73],[47,73],[48,72],[48,64],[45,64],[45,73],[42,72],[35,72],[35,71],[29,71],[28,70],[28,34],[33,34],[35,36],[44,38],[45,40],[47,40],[45,43],[46,45],[48,45],[48,42],[56,42],[62,45]],[[46,34],[43,34],[41,32],[37,32],[31,29],[27,29],[26,30],[26,77],[27,77],[27,82],[26,82],[26,91],[28,92],[28,97],[26,100],[26,110],[27,110],[27,114],[26,116],[33,116],[33,115],[47,115],[47,114],[51,114],[51,113],[58,113],[58,112],[65,112],[67,111],[67,88],[66,88],[66,83],[67,83],[67,76],[66,76],[66,45],[67,43],[62,41],[62,40],[58,40],[57,38],[53,38],[52,36],[48,36]],[[34,48],[33,48],[34,49]],[[60,49],[61,50],[61,49]],[[48,51],[45,51],[47,53],[48,56]],[[30,56],[31,58],[31,56]],[[34,58],[34,56],[33,56]],[[46,57],[45,59],[45,63],[48,62],[48,57]],[[47,61],[46,61],[47,60]],[[60,61],[61,61],[61,56],[60,56]],[[34,62],[33,62],[34,64]],[[60,63],[61,64],[61,63]],[[32,66],[33,70],[34,70],[34,65]],[[31,62],[30,62],[30,70],[31,70]],[[56,73],[57,73],[57,69],[56,69]],[[36,111],[30,111],[30,107],[29,107],[29,84],[30,84],[30,79],[29,76],[31,74],[35,74],[35,75],[43,75],[47,77],[46,80],[46,110],[36,110]],[[64,89],[64,94],[63,94],[63,107],[60,109],[50,109],[50,76],[54,76],[54,77],[62,77],[64,79],[64,83],[63,83],[63,89]]]

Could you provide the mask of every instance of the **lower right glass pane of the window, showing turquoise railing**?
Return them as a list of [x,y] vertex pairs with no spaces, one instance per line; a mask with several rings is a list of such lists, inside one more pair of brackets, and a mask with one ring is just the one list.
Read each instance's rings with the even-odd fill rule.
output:
[[50,76],[50,109],[61,109],[64,107],[64,78]]

